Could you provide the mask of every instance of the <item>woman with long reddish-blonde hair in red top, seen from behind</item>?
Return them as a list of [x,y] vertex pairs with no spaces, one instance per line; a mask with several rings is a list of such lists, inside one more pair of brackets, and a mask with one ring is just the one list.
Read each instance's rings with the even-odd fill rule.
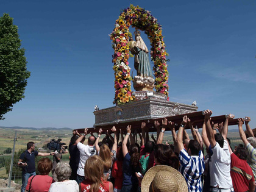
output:
[[93,155],[85,163],[85,180],[79,184],[82,192],[113,192],[112,182],[103,179],[104,167],[102,158]]

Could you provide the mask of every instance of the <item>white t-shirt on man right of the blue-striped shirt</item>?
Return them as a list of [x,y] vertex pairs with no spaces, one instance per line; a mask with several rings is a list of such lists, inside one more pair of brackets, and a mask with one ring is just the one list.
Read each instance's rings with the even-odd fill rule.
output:
[[229,144],[224,140],[223,148],[216,145],[212,148],[213,155],[210,160],[210,179],[211,186],[229,189],[233,187],[230,176],[230,153]]

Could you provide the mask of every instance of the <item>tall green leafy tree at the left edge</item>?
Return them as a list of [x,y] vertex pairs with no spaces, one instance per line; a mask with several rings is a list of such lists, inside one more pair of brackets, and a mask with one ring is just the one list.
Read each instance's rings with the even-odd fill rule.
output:
[[24,98],[27,78],[25,49],[21,47],[18,27],[4,13],[0,17],[0,120],[12,111],[13,104]]

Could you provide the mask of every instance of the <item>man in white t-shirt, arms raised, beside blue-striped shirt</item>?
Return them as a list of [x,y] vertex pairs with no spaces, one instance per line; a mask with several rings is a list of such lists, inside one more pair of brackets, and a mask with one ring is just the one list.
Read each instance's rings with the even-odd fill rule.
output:
[[229,153],[229,143],[227,143],[227,129],[229,119],[233,119],[235,116],[229,114],[229,116],[226,117],[221,134],[214,134],[210,124],[210,116],[212,115],[212,111],[205,110],[204,113],[207,137],[210,141],[213,152],[210,160],[210,191],[234,191],[230,176],[231,158]]

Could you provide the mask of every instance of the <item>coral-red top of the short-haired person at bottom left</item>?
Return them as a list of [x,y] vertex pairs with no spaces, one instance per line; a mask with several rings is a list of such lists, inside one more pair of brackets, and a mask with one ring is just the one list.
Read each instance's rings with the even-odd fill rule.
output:
[[[26,187],[27,191],[29,190],[30,182],[31,182],[31,179],[33,177],[34,176],[29,177],[29,180],[27,182],[27,187]],[[54,180],[52,179],[52,177],[50,177],[48,175],[46,175],[46,176],[41,176],[41,175],[35,176],[34,179],[32,180],[30,191],[31,192],[33,192],[33,191],[48,192],[52,183],[54,183]]]

